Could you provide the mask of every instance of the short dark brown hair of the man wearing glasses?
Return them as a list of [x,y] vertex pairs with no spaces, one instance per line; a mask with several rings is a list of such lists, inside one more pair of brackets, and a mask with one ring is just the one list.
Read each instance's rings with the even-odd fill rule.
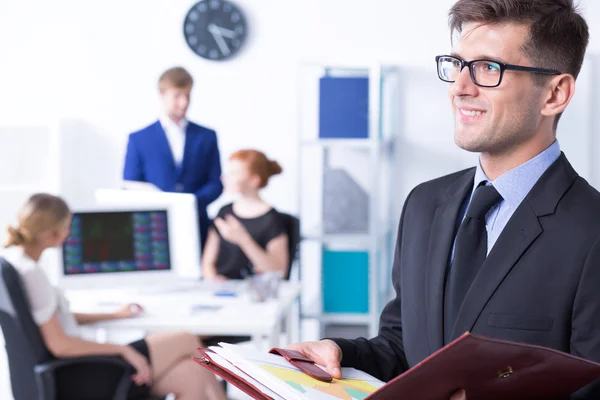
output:
[[573,0],[458,0],[450,10],[451,34],[466,23],[528,26],[522,50],[533,66],[575,78],[589,41],[588,25]]

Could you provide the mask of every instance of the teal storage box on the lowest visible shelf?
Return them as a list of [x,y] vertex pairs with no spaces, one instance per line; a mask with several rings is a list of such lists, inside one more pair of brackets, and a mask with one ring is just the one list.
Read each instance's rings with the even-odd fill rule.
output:
[[323,312],[369,312],[369,253],[323,250]]

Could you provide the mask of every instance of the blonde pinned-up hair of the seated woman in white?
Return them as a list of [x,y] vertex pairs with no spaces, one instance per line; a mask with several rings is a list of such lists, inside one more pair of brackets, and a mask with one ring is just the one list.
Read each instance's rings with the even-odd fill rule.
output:
[[69,215],[69,206],[60,197],[34,194],[21,206],[17,214],[18,226],[8,226],[4,247],[34,243],[40,233],[56,228]]

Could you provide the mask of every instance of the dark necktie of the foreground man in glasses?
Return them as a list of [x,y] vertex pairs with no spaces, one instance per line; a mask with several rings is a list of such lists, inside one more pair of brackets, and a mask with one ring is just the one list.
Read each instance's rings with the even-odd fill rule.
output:
[[[487,256],[487,231],[485,215],[502,196],[491,185],[479,186],[456,234],[454,258],[446,278],[444,294],[444,338],[450,335],[458,317],[458,311]],[[463,333],[463,332],[459,332]]]

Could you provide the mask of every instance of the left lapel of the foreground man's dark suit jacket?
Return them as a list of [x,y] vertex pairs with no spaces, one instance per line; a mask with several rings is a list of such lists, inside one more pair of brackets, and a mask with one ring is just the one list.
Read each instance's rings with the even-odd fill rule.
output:
[[427,289],[425,295],[431,352],[443,346],[444,280],[457,227],[460,206],[473,189],[475,169],[463,174],[446,189],[447,196],[435,212],[427,252]]

